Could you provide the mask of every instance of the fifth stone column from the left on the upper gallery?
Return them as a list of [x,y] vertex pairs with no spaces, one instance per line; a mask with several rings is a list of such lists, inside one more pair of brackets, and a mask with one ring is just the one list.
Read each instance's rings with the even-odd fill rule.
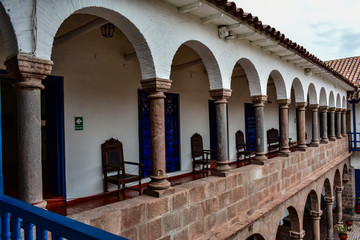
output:
[[281,118],[281,149],[279,156],[288,157],[289,150],[289,104],[291,99],[278,100],[280,105],[280,118]]

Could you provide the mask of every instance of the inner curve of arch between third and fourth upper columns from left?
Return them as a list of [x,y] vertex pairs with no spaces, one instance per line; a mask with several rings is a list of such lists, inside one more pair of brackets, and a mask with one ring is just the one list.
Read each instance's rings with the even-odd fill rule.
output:
[[245,71],[246,78],[249,82],[250,96],[262,95],[259,74],[254,64],[247,58],[240,59],[238,63]]

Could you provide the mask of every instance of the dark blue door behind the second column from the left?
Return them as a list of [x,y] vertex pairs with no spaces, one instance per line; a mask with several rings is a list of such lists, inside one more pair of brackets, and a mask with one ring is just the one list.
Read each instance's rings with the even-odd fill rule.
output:
[[[148,94],[138,90],[138,117],[139,117],[139,157],[144,164],[143,177],[151,174],[150,148],[150,105]],[[180,170],[180,126],[179,126],[179,95],[165,93],[165,152],[166,172]]]

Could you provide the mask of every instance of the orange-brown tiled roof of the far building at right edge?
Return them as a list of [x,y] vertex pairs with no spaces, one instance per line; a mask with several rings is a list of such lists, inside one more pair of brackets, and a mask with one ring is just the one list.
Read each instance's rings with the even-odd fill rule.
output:
[[343,75],[350,82],[360,83],[360,56],[326,61],[329,67]]

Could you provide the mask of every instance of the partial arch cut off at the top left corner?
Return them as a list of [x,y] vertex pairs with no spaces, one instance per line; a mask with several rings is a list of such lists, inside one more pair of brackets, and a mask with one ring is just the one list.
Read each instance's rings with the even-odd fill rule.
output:
[[[11,23],[9,15],[6,13],[3,4],[0,2],[0,38],[4,42],[5,56],[15,56],[18,54],[18,42],[15,30]],[[4,62],[5,59],[2,59]]]

